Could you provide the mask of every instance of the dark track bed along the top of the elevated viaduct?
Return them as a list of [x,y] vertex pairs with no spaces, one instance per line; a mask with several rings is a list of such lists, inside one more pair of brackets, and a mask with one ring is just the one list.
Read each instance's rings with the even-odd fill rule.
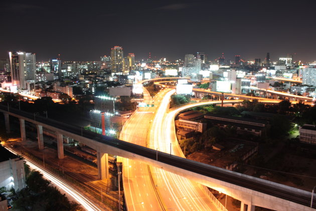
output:
[[[2,110],[2,111],[1,111]],[[4,105],[0,105],[0,112],[7,112],[8,107]],[[25,118],[34,119],[34,114],[20,111],[17,109],[11,109],[9,114],[16,114]],[[76,134],[78,136],[83,136],[88,139],[94,140],[99,143],[103,143],[121,150],[125,150],[131,153],[135,153],[137,155],[157,160],[159,162],[175,166],[181,169],[185,169],[191,172],[195,172],[201,175],[205,175],[207,177],[212,177],[221,181],[225,181],[231,184],[235,184],[238,186],[242,186],[251,190],[255,190],[258,192],[266,193],[272,196],[276,196],[282,199],[286,199],[295,203],[303,204],[305,206],[310,205],[311,193],[307,191],[303,191],[300,189],[293,189],[292,187],[286,185],[280,185],[274,182],[266,181],[263,179],[244,176],[243,174],[228,171],[222,168],[218,168],[215,166],[210,166],[207,164],[203,164],[200,162],[188,160],[179,156],[170,155],[164,152],[157,152],[156,150],[149,149],[146,147],[142,147],[139,145],[135,145],[132,143],[128,143],[125,141],[121,141],[115,138],[102,136],[100,134],[96,134],[90,131],[84,131],[82,133],[81,128],[77,126],[72,126],[68,124],[64,124],[58,121],[54,121],[51,119],[46,119],[41,116],[36,116],[36,121],[50,125],[52,127],[58,128],[60,130],[67,131],[69,133]],[[156,155],[158,155],[156,157]],[[316,200],[313,198],[313,208],[316,208]]]

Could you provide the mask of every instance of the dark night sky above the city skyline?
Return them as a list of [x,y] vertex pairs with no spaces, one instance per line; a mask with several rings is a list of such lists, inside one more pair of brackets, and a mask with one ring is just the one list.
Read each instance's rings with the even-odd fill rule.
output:
[[[64,3],[67,2],[67,3]],[[136,60],[183,59],[205,52],[252,61],[296,53],[316,60],[316,1],[6,1],[1,5],[0,58],[8,51],[99,60],[114,45]]]

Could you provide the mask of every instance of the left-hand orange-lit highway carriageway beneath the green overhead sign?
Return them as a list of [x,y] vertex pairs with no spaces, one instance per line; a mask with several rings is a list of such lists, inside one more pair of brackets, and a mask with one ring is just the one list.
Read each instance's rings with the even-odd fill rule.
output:
[[[166,91],[161,91],[153,99],[155,105],[159,104],[159,98]],[[144,102],[152,103],[149,92],[143,88]],[[150,120],[155,108],[138,108],[124,124],[120,134],[120,140],[124,140],[140,146],[146,146],[146,139]],[[118,158],[122,162],[122,181],[124,186],[125,202],[128,210],[164,210],[159,196],[153,186],[148,165],[139,161],[126,158]]]

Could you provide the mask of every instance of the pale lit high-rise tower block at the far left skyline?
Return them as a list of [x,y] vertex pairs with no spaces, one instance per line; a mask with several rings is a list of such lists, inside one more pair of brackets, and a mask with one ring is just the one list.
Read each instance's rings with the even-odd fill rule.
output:
[[26,80],[36,82],[36,58],[33,53],[9,52],[13,85],[25,89]]

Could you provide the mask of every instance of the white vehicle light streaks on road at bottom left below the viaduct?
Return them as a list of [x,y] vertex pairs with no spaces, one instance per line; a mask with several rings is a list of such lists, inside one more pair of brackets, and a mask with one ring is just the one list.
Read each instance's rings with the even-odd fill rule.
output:
[[[10,152],[19,155],[16,151],[7,148]],[[69,195],[71,195],[79,204],[81,204],[86,210],[88,211],[94,211],[94,210],[98,210],[101,211],[102,209],[99,209],[96,205],[94,205],[93,202],[89,201],[84,195],[82,195],[80,192],[78,192],[77,190],[75,190],[73,187],[71,187],[70,185],[68,185],[67,183],[63,182],[62,180],[60,180],[58,177],[54,176],[53,174],[51,174],[50,172],[46,171],[45,169],[43,169],[39,164],[33,162],[32,160],[24,157],[24,160],[26,161],[26,163],[35,170],[38,170],[39,172],[41,172],[47,179],[49,179],[50,181],[52,181],[56,186],[60,187],[61,189],[63,189],[65,192],[67,192]]]

